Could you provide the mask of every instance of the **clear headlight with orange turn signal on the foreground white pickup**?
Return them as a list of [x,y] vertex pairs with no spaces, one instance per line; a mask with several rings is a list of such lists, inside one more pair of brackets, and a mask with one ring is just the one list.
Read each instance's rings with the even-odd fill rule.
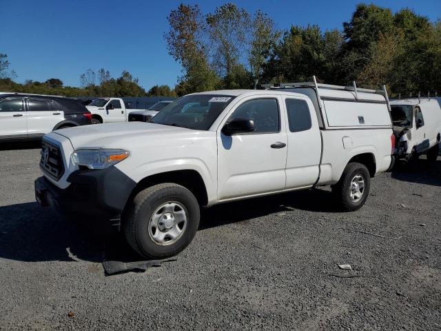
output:
[[74,165],[89,169],[105,169],[129,157],[127,150],[75,150],[71,159]]

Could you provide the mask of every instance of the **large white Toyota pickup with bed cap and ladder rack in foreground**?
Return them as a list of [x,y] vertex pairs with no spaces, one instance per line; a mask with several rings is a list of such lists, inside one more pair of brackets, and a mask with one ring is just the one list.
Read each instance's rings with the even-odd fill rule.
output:
[[194,93],[148,123],[46,134],[36,199],[121,220],[136,252],[163,258],[192,241],[203,206],[331,185],[343,210],[358,210],[393,143],[387,94],[375,90],[314,81]]

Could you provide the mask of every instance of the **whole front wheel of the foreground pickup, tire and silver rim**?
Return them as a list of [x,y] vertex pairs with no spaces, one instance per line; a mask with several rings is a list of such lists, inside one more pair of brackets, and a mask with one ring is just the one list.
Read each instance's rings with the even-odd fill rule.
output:
[[123,230],[136,252],[163,259],[189,245],[199,219],[198,201],[192,192],[175,183],[162,183],[136,194],[123,220]]

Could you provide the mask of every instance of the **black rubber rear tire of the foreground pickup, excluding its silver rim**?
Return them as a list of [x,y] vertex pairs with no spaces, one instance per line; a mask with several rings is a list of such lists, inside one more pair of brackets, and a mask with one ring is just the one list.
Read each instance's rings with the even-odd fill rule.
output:
[[[351,199],[351,182],[356,176],[361,176],[365,185],[361,197],[357,201]],[[371,175],[362,163],[349,163],[340,177],[340,181],[332,187],[332,193],[336,202],[345,211],[353,212],[362,208],[365,204],[371,188]]]

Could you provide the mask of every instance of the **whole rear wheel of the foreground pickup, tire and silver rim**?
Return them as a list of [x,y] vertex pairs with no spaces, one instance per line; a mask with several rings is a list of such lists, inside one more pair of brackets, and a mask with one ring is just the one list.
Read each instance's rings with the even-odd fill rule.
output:
[[343,210],[352,212],[365,204],[371,176],[369,170],[362,163],[349,163],[343,171],[340,181],[332,188],[332,193]]

